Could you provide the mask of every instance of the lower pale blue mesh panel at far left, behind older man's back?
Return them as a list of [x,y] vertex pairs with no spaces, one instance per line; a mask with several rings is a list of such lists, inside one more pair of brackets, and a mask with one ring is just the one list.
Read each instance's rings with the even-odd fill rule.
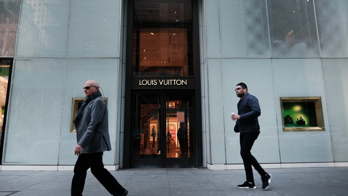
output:
[[15,59],[2,164],[56,165],[65,59]]

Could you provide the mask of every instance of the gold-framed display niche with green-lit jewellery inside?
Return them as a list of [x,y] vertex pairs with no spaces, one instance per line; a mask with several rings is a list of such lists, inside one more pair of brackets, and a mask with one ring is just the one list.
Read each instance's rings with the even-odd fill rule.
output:
[[280,97],[283,132],[325,131],[321,97]]

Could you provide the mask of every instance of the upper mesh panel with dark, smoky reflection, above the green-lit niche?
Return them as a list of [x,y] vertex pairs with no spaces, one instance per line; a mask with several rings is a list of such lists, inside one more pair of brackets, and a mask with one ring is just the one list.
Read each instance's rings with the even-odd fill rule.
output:
[[313,0],[267,0],[273,58],[319,57]]

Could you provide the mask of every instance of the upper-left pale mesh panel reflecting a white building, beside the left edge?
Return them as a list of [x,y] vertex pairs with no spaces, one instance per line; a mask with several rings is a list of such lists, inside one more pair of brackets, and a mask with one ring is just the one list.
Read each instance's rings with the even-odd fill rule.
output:
[[70,0],[22,2],[16,56],[65,57]]

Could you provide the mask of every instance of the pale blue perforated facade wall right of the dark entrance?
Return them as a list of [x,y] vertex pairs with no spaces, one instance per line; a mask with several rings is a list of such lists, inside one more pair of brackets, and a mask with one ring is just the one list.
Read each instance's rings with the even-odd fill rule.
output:
[[[243,163],[230,119],[239,82],[260,102],[261,134],[252,149],[260,163],[348,161],[348,2],[289,3],[296,1],[202,0],[207,163]],[[283,132],[280,97],[315,96],[322,98],[325,131]]]

